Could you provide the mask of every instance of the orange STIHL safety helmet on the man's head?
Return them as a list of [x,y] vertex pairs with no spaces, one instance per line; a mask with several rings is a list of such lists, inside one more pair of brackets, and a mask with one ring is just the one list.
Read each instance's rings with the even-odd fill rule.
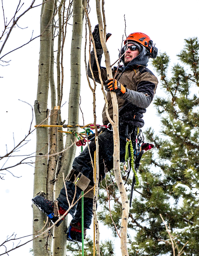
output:
[[138,42],[139,44],[142,44],[144,47],[146,47],[147,50],[149,50],[150,57],[155,59],[157,57],[157,48],[153,44],[153,41],[150,39],[149,36],[147,36],[144,33],[139,33],[139,32],[134,32],[131,33],[129,36],[127,36],[126,40],[124,40],[124,45],[128,41],[135,41]]

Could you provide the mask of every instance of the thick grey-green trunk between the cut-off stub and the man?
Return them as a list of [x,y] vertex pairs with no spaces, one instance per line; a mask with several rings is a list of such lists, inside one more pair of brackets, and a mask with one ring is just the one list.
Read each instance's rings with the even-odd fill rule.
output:
[[[63,2],[61,2],[63,4]],[[68,108],[68,124],[76,125],[79,123],[79,100],[80,100],[80,81],[81,81],[81,43],[82,43],[82,28],[83,28],[83,14],[82,14],[82,0],[73,1],[73,33],[71,42],[71,84],[69,95],[69,108]],[[59,14],[61,18],[61,14]],[[60,69],[59,69],[60,70]],[[60,71],[59,71],[60,73]],[[58,78],[60,83],[60,77]],[[59,102],[59,97],[58,97]],[[73,129],[77,131],[78,129]],[[67,135],[65,148],[71,146],[76,141],[74,135]],[[59,144],[59,143],[58,143]],[[61,148],[59,148],[61,151]],[[60,189],[63,187],[63,175],[68,174],[72,169],[72,163],[75,158],[76,145],[74,144],[68,150],[59,155],[56,182],[54,186],[54,198],[59,196]],[[59,228],[53,229],[53,256],[65,256],[66,255],[66,229],[67,229],[67,217]]]

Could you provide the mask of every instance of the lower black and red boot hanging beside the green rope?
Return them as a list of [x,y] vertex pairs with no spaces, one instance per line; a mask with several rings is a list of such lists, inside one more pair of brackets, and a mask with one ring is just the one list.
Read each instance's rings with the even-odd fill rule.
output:
[[[67,240],[71,242],[82,242],[82,225],[77,222],[75,224],[70,223],[67,228]],[[84,229],[84,239],[86,236],[86,229]]]

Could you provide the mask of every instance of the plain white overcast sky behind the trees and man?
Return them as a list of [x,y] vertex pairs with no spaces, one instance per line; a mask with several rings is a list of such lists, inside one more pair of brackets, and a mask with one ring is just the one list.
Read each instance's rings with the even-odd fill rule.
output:
[[[41,1],[37,1],[39,4]],[[95,1],[91,1],[90,19],[92,30],[97,22],[95,13]],[[27,0],[24,4],[28,6],[31,1]],[[4,1],[5,17],[12,17],[12,13],[17,5],[16,0]],[[110,1],[105,0],[105,13],[107,17],[107,32],[112,36],[107,41],[110,52],[111,63],[118,57],[118,48],[121,47],[122,36],[124,34],[124,14],[126,19],[126,34],[132,32],[143,32],[150,36],[156,44],[159,52],[167,52],[171,58],[171,63],[177,63],[176,54],[180,52],[184,45],[184,39],[199,36],[198,32],[198,7],[197,0],[188,2],[182,1]],[[22,7],[25,10],[25,7]],[[0,27],[2,30],[3,16],[0,11]],[[15,28],[6,43],[4,53],[8,52],[23,43],[26,43],[34,30],[34,36],[39,34],[40,7],[31,10],[19,21],[21,28]],[[64,55],[64,95],[63,101],[67,102],[62,109],[62,118],[68,119],[68,96],[70,86],[70,41],[72,26],[68,25],[67,44],[65,45]],[[85,29],[85,27],[84,27]],[[83,32],[85,33],[85,32]],[[84,35],[84,34],[83,34]],[[84,36],[82,48],[84,49]],[[84,53],[83,55],[84,56]],[[13,147],[13,132],[15,143],[19,142],[24,134],[27,134],[32,118],[31,108],[19,101],[23,100],[30,105],[34,105],[37,91],[38,60],[39,60],[39,39],[37,38],[23,48],[7,55],[5,61],[11,60],[9,66],[0,66],[1,94],[1,136],[0,136],[0,155]],[[88,60],[87,60],[88,61]],[[1,63],[2,64],[2,63]],[[104,66],[102,61],[102,66]],[[149,69],[153,68],[149,64]],[[160,79],[159,79],[160,80]],[[82,85],[81,85],[81,108],[84,112],[85,124],[92,123],[92,93],[87,85],[84,68],[84,57],[82,57]],[[101,112],[104,105],[103,95],[100,85],[97,88],[97,123],[102,124]],[[162,95],[160,86],[157,95]],[[49,105],[50,108],[50,105]],[[81,116],[81,114],[80,114]],[[145,130],[152,126],[156,132],[160,129],[159,118],[156,116],[155,108],[151,105],[144,116]],[[35,122],[35,121],[34,121]],[[82,120],[79,122],[81,124]],[[35,151],[35,133],[30,135],[31,141],[28,146],[20,153],[33,153]],[[77,152],[80,149],[77,148]],[[22,177],[20,179],[12,177],[11,174],[4,175],[5,180],[0,180],[1,195],[1,232],[0,244],[6,236],[13,232],[17,236],[29,235],[32,233],[32,208],[31,198],[33,195],[33,173],[34,169],[28,165],[20,166],[12,172]],[[3,231],[3,232],[2,232]],[[111,232],[110,232],[111,234]],[[92,236],[92,232],[91,232]],[[109,235],[110,236],[110,235]],[[29,255],[29,243],[9,255]],[[0,249],[1,252],[1,249]],[[118,254],[119,255],[119,254]]]

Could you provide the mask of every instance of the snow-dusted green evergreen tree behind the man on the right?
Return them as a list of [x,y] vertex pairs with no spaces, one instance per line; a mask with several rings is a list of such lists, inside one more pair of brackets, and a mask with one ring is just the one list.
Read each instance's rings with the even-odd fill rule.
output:
[[[188,241],[181,255],[194,256],[199,251],[198,39],[185,40],[185,47],[177,56],[181,64],[172,67],[171,77],[166,53],[153,60],[154,68],[161,76],[159,86],[166,95],[154,100],[161,116],[162,130],[148,129],[145,133],[145,140],[153,143],[155,148],[143,155],[138,171],[140,185],[134,189],[129,215],[129,255],[173,255],[171,244],[166,242],[169,236],[160,214],[171,234],[178,235],[175,242],[179,250]],[[129,178],[128,194],[131,182]],[[119,229],[121,203],[118,189],[111,183],[111,179],[107,180],[109,197],[114,199],[110,202],[111,215]],[[106,180],[102,184],[106,187]],[[100,190],[101,211],[98,215],[116,236],[107,191]]]

